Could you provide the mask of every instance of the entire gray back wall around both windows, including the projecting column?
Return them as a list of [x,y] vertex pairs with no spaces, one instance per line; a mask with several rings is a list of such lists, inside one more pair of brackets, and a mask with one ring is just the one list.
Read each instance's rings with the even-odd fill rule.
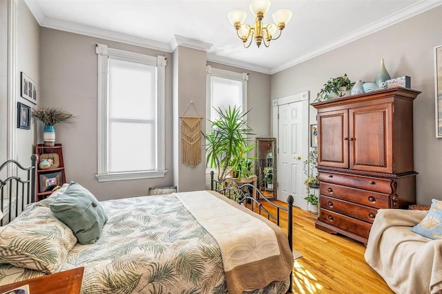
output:
[[[98,183],[97,173],[97,55],[95,44],[147,55],[165,55],[166,169],[164,178]],[[180,59],[180,54],[184,55]],[[191,59],[186,59],[191,57]],[[177,59],[177,60],[175,60]],[[63,144],[68,181],[77,181],[99,200],[147,194],[148,187],[179,184],[182,190],[204,189],[205,155],[198,167],[181,163],[179,116],[193,100],[205,123],[205,53],[178,47],[172,54],[111,42],[50,28],[40,29],[40,102],[78,116],[74,126],[56,126],[56,142]],[[211,64],[217,68],[249,72],[250,127],[259,136],[270,134],[270,75]],[[195,79],[198,82],[195,82]],[[169,114],[171,113],[171,114]],[[193,114],[193,113],[191,113]],[[203,129],[204,129],[203,123]],[[42,127],[42,126],[40,126]],[[41,136],[37,136],[41,141]],[[204,144],[204,142],[203,142]],[[202,147],[204,150],[204,146]],[[130,150],[128,150],[130,152]]]

